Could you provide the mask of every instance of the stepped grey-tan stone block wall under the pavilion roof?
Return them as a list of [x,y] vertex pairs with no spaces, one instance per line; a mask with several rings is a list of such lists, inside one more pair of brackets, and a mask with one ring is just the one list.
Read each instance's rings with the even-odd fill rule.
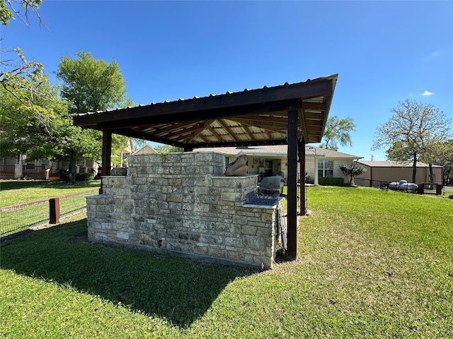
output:
[[219,153],[132,155],[125,177],[87,198],[88,239],[271,268],[277,204],[246,204],[257,176],[225,177]]

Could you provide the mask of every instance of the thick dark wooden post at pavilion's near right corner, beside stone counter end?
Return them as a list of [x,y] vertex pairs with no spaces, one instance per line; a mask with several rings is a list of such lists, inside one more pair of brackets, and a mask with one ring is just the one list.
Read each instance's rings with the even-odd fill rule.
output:
[[287,218],[288,218],[288,251],[289,259],[297,257],[297,118],[299,112],[288,112],[288,192],[287,192]]

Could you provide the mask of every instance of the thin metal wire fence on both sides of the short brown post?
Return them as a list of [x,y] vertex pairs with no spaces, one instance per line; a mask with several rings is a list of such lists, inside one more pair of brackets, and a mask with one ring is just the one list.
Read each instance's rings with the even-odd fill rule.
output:
[[[97,194],[98,189],[60,196],[60,218],[80,213],[86,208],[86,196]],[[16,206],[0,208],[0,240],[14,237],[33,228],[49,225],[49,200],[33,201]]]

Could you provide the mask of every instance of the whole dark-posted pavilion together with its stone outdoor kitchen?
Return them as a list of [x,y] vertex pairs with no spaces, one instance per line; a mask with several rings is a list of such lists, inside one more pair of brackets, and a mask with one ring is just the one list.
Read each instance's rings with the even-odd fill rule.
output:
[[225,176],[224,155],[194,148],[288,145],[287,258],[297,257],[297,190],[305,213],[298,150],[319,143],[338,75],[303,83],[74,115],[103,131],[103,164],[112,133],[183,148],[130,155],[125,176],[103,167],[100,194],[87,198],[88,240],[204,261],[272,268],[281,198],[256,205],[258,176]]

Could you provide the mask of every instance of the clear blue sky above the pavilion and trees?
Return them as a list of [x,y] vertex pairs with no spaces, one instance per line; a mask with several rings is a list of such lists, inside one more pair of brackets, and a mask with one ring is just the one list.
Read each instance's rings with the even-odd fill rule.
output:
[[352,147],[385,160],[374,131],[398,101],[453,117],[453,1],[50,1],[1,27],[52,72],[62,56],[115,59],[137,104],[298,83],[338,73],[330,115],[352,117]]

